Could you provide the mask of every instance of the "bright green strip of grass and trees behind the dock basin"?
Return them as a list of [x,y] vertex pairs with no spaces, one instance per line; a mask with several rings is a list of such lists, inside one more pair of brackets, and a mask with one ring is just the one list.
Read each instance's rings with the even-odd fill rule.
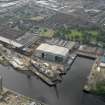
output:
[[60,37],[63,39],[80,41],[82,43],[98,43],[99,41],[104,41],[104,35],[101,29],[85,29],[85,28],[59,28],[55,32],[55,37]]

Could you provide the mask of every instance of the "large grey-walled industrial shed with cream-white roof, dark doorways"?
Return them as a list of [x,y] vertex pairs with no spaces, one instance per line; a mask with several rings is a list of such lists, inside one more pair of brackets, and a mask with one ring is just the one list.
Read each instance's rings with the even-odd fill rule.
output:
[[37,47],[34,56],[44,60],[63,63],[68,57],[69,49],[56,45],[42,43]]

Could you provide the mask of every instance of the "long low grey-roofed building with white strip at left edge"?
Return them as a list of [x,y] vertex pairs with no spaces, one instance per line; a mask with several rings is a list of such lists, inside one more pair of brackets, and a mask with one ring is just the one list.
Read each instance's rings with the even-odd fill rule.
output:
[[9,27],[0,26],[0,42],[12,45],[15,48],[30,46],[38,38],[36,34],[23,33]]

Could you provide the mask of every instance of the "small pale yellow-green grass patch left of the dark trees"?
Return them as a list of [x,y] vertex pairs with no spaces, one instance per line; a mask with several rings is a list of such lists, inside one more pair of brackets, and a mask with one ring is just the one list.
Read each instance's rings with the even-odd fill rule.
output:
[[39,29],[39,34],[42,37],[51,38],[54,35],[54,30],[53,29],[48,29],[48,28],[40,28]]

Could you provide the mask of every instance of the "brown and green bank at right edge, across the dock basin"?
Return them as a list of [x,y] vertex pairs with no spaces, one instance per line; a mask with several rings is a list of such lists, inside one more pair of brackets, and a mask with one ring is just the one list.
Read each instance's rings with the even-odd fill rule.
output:
[[102,57],[98,57],[94,62],[84,91],[105,97],[105,66],[100,59]]

